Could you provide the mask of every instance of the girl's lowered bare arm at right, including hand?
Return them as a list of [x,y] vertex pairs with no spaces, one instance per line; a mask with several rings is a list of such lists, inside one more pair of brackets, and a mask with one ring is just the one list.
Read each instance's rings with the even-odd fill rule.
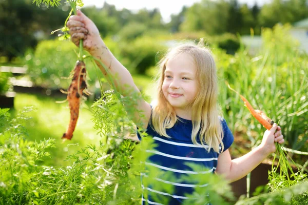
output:
[[271,130],[265,131],[261,145],[242,157],[232,160],[229,150],[221,153],[218,157],[216,173],[224,175],[230,182],[243,178],[269,154],[276,151],[274,142],[279,142],[279,144],[284,142],[281,128],[277,124],[274,124]]

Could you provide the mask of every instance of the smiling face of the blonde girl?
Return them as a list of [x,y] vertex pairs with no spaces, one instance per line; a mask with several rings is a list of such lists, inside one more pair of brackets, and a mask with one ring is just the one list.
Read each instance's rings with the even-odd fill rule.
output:
[[187,110],[197,94],[196,66],[192,57],[182,53],[168,60],[164,73],[163,93],[170,105]]

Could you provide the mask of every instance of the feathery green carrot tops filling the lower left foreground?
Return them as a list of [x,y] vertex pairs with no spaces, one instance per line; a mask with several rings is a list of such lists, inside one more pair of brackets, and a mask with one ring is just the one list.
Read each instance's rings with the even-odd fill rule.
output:
[[49,155],[46,149],[54,147],[54,140],[38,143],[24,139],[27,132],[23,123],[30,110],[22,111],[11,121],[7,121],[8,109],[0,110],[0,118],[6,120],[5,130],[0,132],[0,204],[138,203],[140,178],[134,176],[136,173],[130,174],[136,179],[134,182],[128,178],[130,162],[140,163],[138,156],[131,156],[135,142],[112,136],[108,146],[88,145],[69,155],[71,166],[67,168],[40,166],[37,161]]

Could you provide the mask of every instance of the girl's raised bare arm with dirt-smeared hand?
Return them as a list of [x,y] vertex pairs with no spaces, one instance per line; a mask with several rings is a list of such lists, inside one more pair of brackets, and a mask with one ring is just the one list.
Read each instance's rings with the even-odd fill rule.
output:
[[140,96],[137,103],[134,105],[136,107],[128,108],[128,106],[132,105],[131,103],[127,103],[127,105],[124,104],[124,106],[129,110],[135,110],[133,113],[128,113],[129,117],[138,127],[146,128],[151,112],[150,105],[141,97],[140,91],[134,84],[129,71],[107,48],[100,36],[98,28],[92,20],[78,10],[77,15],[73,15],[69,18],[67,27],[70,30],[72,42],[76,46],[79,46],[80,39],[83,39],[84,49],[87,50],[94,58],[102,61],[102,63],[107,67],[109,74],[106,72],[101,63],[95,60],[109,84],[111,84],[112,80],[115,89],[123,96]]

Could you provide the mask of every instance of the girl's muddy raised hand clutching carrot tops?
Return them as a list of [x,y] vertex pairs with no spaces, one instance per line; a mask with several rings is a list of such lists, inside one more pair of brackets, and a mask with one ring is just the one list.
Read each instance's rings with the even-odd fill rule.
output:
[[81,10],[77,10],[77,15],[70,16],[66,25],[69,28],[71,41],[79,46],[80,39],[83,39],[83,47],[91,55],[105,47],[97,26]]

